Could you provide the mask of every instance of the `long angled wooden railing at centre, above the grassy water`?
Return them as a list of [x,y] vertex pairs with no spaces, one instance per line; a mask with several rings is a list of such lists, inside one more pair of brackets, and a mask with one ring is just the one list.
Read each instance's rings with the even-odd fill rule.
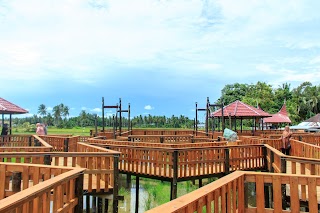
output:
[[[201,143],[200,143],[201,144]],[[238,169],[264,169],[263,145],[156,148],[103,145],[120,152],[119,171],[179,180],[214,176]]]

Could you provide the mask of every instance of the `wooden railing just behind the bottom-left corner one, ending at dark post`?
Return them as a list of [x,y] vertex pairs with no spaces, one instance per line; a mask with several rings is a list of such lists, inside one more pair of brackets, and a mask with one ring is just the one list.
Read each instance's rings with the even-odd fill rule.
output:
[[78,143],[77,151],[6,152],[0,153],[0,161],[84,168],[84,188],[88,192],[108,192],[114,188],[114,182],[119,179],[120,153],[85,143]]

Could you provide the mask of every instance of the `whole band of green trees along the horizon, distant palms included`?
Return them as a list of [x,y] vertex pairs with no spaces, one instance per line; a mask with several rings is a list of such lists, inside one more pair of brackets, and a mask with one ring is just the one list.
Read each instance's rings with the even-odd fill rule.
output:
[[[273,88],[270,84],[260,81],[256,84],[228,84],[224,86],[221,97],[215,103],[221,104],[223,102],[224,105],[228,105],[236,100],[251,106],[259,106],[271,114],[278,112],[285,102],[289,117],[293,124],[296,124],[320,112],[320,85],[315,86],[310,82],[303,82],[298,87],[291,88],[289,83],[284,83]],[[43,122],[58,128],[94,126],[95,123],[99,127],[102,126],[101,116],[82,110],[79,116],[69,117],[69,110],[68,106],[61,103],[54,106],[50,113],[45,104],[40,104],[37,115],[14,118],[13,121],[18,125],[25,122],[31,124]],[[122,117],[124,127],[128,126],[128,122],[127,117]],[[194,119],[184,115],[172,115],[171,117],[150,114],[138,115],[133,117],[130,122],[136,128],[193,128],[194,125]],[[202,122],[204,122],[203,118]],[[116,125],[114,117],[105,118],[106,127],[114,125]]]

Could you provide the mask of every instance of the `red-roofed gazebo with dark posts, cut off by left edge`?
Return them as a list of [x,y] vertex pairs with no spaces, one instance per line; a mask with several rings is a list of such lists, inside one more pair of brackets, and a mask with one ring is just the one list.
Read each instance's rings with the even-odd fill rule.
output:
[[2,126],[4,124],[4,115],[7,114],[10,116],[10,135],[12,134],[11,128],[12,128],[12,115],[13,114],[25,114],[28,113],[27,110],[3,99],[0,97],[0,114],[2,114]]

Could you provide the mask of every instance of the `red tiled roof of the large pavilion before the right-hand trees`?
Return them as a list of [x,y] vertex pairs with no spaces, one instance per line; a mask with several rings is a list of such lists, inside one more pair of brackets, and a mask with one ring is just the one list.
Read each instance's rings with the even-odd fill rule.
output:
[[[257,109],[253,106],[245,104],[239,100],[223,107],[223,116],[228,117],[270,117],[271,115],[262,109]],[[218,109],[217,111],[211,114],[211,117],[222,117],[222,110]]]

